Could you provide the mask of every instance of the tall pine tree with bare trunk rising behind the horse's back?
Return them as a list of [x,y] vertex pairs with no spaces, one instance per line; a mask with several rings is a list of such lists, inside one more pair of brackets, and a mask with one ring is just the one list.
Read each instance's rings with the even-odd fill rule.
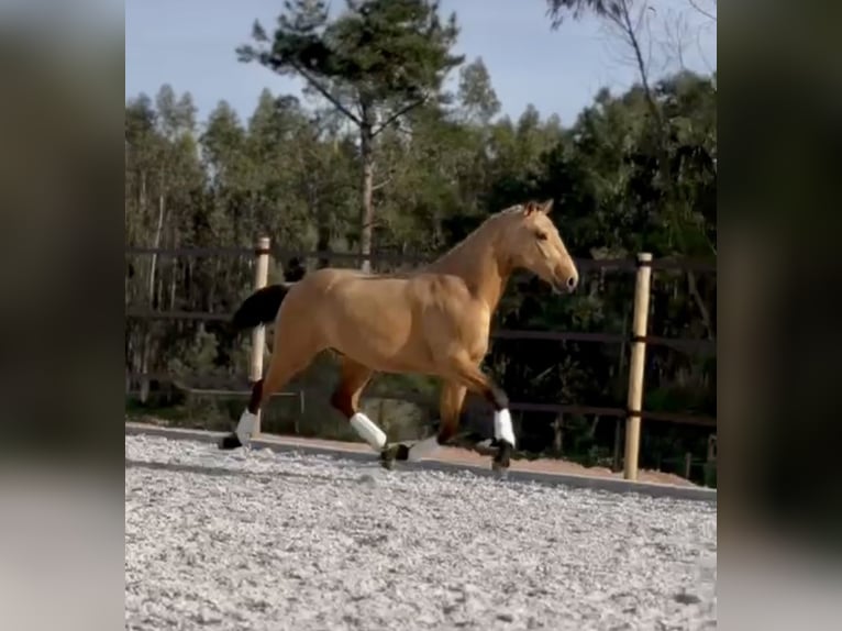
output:
[[443,23],[437,1],[347,0],[331,20],[323,0],[287,0],[272,40],[255,22],[256,45],[237,48],[244,63],[302,78],[356,130],[364,270],[375,223],[375,140],[411,110],[442,100],[444,78],[464,59],[450,53],[457,34],[455,13]]

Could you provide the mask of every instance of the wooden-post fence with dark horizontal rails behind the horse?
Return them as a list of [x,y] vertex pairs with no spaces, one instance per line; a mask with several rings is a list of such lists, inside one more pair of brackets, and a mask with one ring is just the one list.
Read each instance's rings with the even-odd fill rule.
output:
[[[301,253],[295,251],[282,251],[270,248],[268,237],[257,240],[254,248],[245,247],[204,247],[204,248],[153,248],[153,247],[126,247],[128,255],[156,255],[156,256],[187,256],[187,257],[209,257],[209,256],[254,256],[254,288],[265,287],[268,281],[269,256],[275,255],[278,258],[288,259],[290,257],[306,257],[334,261],[358,261],[361,255],[352,253],[334,252],[310,252]],[[398,264],[423,264],[430,262],[429,257],[405,256],[395,254],[370,254],[366,256],[372,262],[390,262]],[[533,411],[533,412],[554,412],[558,417],[564,414],[599,414],[600,417],[625,420],[625,441],[623,457],[623,475],[627,479],[634,480],[638,477],[638,455],[640,452],[641,421],[643,419],[654,422],[669,422],[678,424],[690,424],[707,428],[716,428],[714,418],[679,414],[668,412],[652,412],[642,409],[644,392],[644,366],[647,346],[667,346],[687,352],[709,352],[716,351],[716,342],[711,340],[687,340],[662,337],[647,334],[647,318],[650,302],[650,285],[653,269],[680,269],[695,272],[716,272],[716,264],[707,261],[694,259],[653,259],[649,253],[641,253],[636,259],[614,258],[614,259],[577,259],[577,266],[580,270],[594,269],[613,269],[635,272],[634,307],[631,336],[618,333],[585,333],[573,331],[523,331],[501,329],[491,332],[491,339],[507,340],[542,340],[542,341],[575,341],[590,343],[629,343],[631,346],[631,358],[629,369],[628,397],[625,408],[606,408],[580,405],[563,403],[531,403],[517,402],[510,405],[512,411]],[[208,313],[196,311],[155,311],[152,309],[128,308],[126,318],[144,320],[193,320],[193,321],[228,321],[231,318],[229,313]],[[258,379],[263,374],[263,350],[265,345],[265,330],[263,326],[256,328],[252,332],[252,350],[250,362],[251,380]],[[145,375],[131,374],[131,377],[152,377],[166,380],[166,375]],[[224,387],[226,383],[217,383]],[[210,389],[195,390],[208,395],[244,395],[245,390],[231,389]],[[282,394],[281,394],[282,396]],[[411,397],[402,396],[407,400]],[[301,401],[303,406],[303,401]],[[619,428],[617,425],[618,435]],[[259,431],[259,425],[258,425]],[[714,440],[716,436],[712,436]],[[713,451],[708,450],[707,461],[702,461],[705,466],[709,465],[716,457],[711,455]],[[617,457],[617,456],[616,456]],[[684,468],[689,472],[693,466],[689,455],[684,460]]]

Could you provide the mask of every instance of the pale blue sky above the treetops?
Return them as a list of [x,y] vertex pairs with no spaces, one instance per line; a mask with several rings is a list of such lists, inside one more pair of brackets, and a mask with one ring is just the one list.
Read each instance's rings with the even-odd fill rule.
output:
[[[696,3],[716,14],[716,0]],[[714,70],[716,22],[695,11],[689,0],[650,4],[653,44],[647,54],[654,74],[678,68],[677,47],[664,44],[677,38],[685,42],[684,67]],[[170,84],[177,93],[192,95],[200,120],[223,99],[247,120],[264,88],[300,96],[300,81],[239,63],[234,52],[250,43],[255,19],[272,32],[282,5],[281,0],[125,0],[126,99],[141,92],[154,97]],[[333,0],[333,5],[342,8],[344,0]],[[466,62],[483,58],[502,113],[512,118],[531,103],[542,117],[555,113],[568,126],[600,88],[619,92],[636,79],[628,49],[596,19],[570,19],[554,31],[545,0],[442,0],[441,7],[443,14],[456,12],[461,34],[455,51]],[[679,16],[683,29],[676,27]]]

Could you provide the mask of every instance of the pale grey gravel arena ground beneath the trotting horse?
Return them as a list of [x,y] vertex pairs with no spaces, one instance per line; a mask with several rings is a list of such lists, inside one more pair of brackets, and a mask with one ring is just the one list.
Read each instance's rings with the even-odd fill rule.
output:
[[713,629],[705,502],[125,439],[134,630]]

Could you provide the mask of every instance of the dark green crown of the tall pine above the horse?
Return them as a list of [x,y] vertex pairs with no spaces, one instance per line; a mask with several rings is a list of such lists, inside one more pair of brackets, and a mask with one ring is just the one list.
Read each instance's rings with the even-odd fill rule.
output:
[[456,16],[443,23],[437,2],[348,0],[333,21],[323,0],[287,1],[285,9],[273,38],[255,22],[257,46],[241,46],[237,54],[302,76],[320,91],[326,85],[319,80],[330,80],[352,87],[361,102],[413,101],[437,90],[463,59],[450,54]]

